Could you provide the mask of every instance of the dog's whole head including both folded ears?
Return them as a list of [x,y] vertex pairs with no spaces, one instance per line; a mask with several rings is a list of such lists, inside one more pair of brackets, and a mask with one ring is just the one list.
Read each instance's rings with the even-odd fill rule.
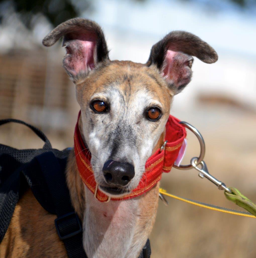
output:
[[56,27],[43,44],[51,46],[61,36],[96,183],[107,195],[121,197],[138,186],[164,133],[172,97],[190,82],[192,56],[213,63],[217,54],[197,36],[174,31],[152,47],[146,64],[110,61],[99,25],[79,18]]

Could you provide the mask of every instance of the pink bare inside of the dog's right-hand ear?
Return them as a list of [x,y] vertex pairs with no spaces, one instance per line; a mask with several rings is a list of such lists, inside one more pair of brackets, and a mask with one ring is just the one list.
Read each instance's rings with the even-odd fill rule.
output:
[[174,84],[177,88],[190,82],[192,71],[189,61],[193,60],[190,55],[182,52],[167,50],[161,75]]

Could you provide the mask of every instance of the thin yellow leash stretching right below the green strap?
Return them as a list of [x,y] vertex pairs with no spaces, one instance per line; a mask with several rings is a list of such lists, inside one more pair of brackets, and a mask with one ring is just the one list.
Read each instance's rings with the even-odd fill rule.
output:
[[207,203],[200,203],[198,201],[194,201],[194,200],[190,200],[190,199],[186,199],[186,198],[182,198],[170,193],[167,193],[166,190],[164,190],[163,188],[159,189],[159,193],[172,197],[174,199],[180,200],[180,201],[184,201],[186,203],[190,203],[199,207],[203,207],[203,208],[207,208],[207,209],[211,209],[214,211],[219,211],[219,212],[224,212],[224,213],[229,213],[229,214],[234,214],[234,215],[239,215],[239,216],[244,216],[244,217],[250,217],[250,218],[254,218],[256,219],[256,217],[248,212],[242,212],[242,211],[236,211],[233,209],[227,209],[227,208],[222,208],[222,207],[218,207],[215,205],[211,205],[211,204],[207,204]]

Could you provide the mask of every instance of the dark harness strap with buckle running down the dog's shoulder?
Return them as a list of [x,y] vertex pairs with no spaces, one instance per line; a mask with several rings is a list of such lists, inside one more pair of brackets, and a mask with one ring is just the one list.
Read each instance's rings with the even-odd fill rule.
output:
[[87,258],[82,243],[82,226],[78,215],[71,205],[65,176],[52,152],[36,157],[52,195],[57,219],[55,226],[59,238],[63,241],[69,258]]

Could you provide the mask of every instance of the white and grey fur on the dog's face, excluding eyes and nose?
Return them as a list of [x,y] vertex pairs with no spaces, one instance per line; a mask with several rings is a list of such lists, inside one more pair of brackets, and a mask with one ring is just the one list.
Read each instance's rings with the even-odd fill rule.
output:
[[92,154],[92,168],[99,185],[106,185],[102,168],[108,160],[124,161],[134,165],[135,176],[128,184],[131,191],[138,186],[147,159],[152,154],[167,118],[153,122],[147,119],[151,107],[163,109],[156,94],[138,89],[122,92],[118,86],[108,86],[95,93],[90,101],[103,100],[108,111],[97,114],[87,107],[81,110],[83,134]]

